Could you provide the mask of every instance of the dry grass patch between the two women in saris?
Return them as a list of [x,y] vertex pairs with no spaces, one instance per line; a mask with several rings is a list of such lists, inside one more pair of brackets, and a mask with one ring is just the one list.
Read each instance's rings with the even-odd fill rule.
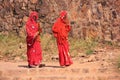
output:
[[53,56],[58,55],[58,49],[55,38],[50,34],[41,36],[41,47],[43,60],[50,61]]

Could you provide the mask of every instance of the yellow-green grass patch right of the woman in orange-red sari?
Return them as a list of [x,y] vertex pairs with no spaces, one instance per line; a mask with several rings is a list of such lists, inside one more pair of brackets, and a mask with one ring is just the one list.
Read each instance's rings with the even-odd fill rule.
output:
[[[94,48],[98,42],[94,40],[70,39],[70,52],[77,55],[79,52],[86,53],[87,55],[93,54]],[[76,52],[76,53],[74,53]]]

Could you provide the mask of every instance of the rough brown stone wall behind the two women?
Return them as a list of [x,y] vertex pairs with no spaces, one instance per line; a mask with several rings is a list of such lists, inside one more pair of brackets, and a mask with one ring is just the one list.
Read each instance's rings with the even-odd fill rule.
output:
[[39,13],[43,33],[51,27],[61,10],[67,10],[72,25],[70,36],[120,40],[120,0],[0,0],[0,33],[24,36],[31,10]]

